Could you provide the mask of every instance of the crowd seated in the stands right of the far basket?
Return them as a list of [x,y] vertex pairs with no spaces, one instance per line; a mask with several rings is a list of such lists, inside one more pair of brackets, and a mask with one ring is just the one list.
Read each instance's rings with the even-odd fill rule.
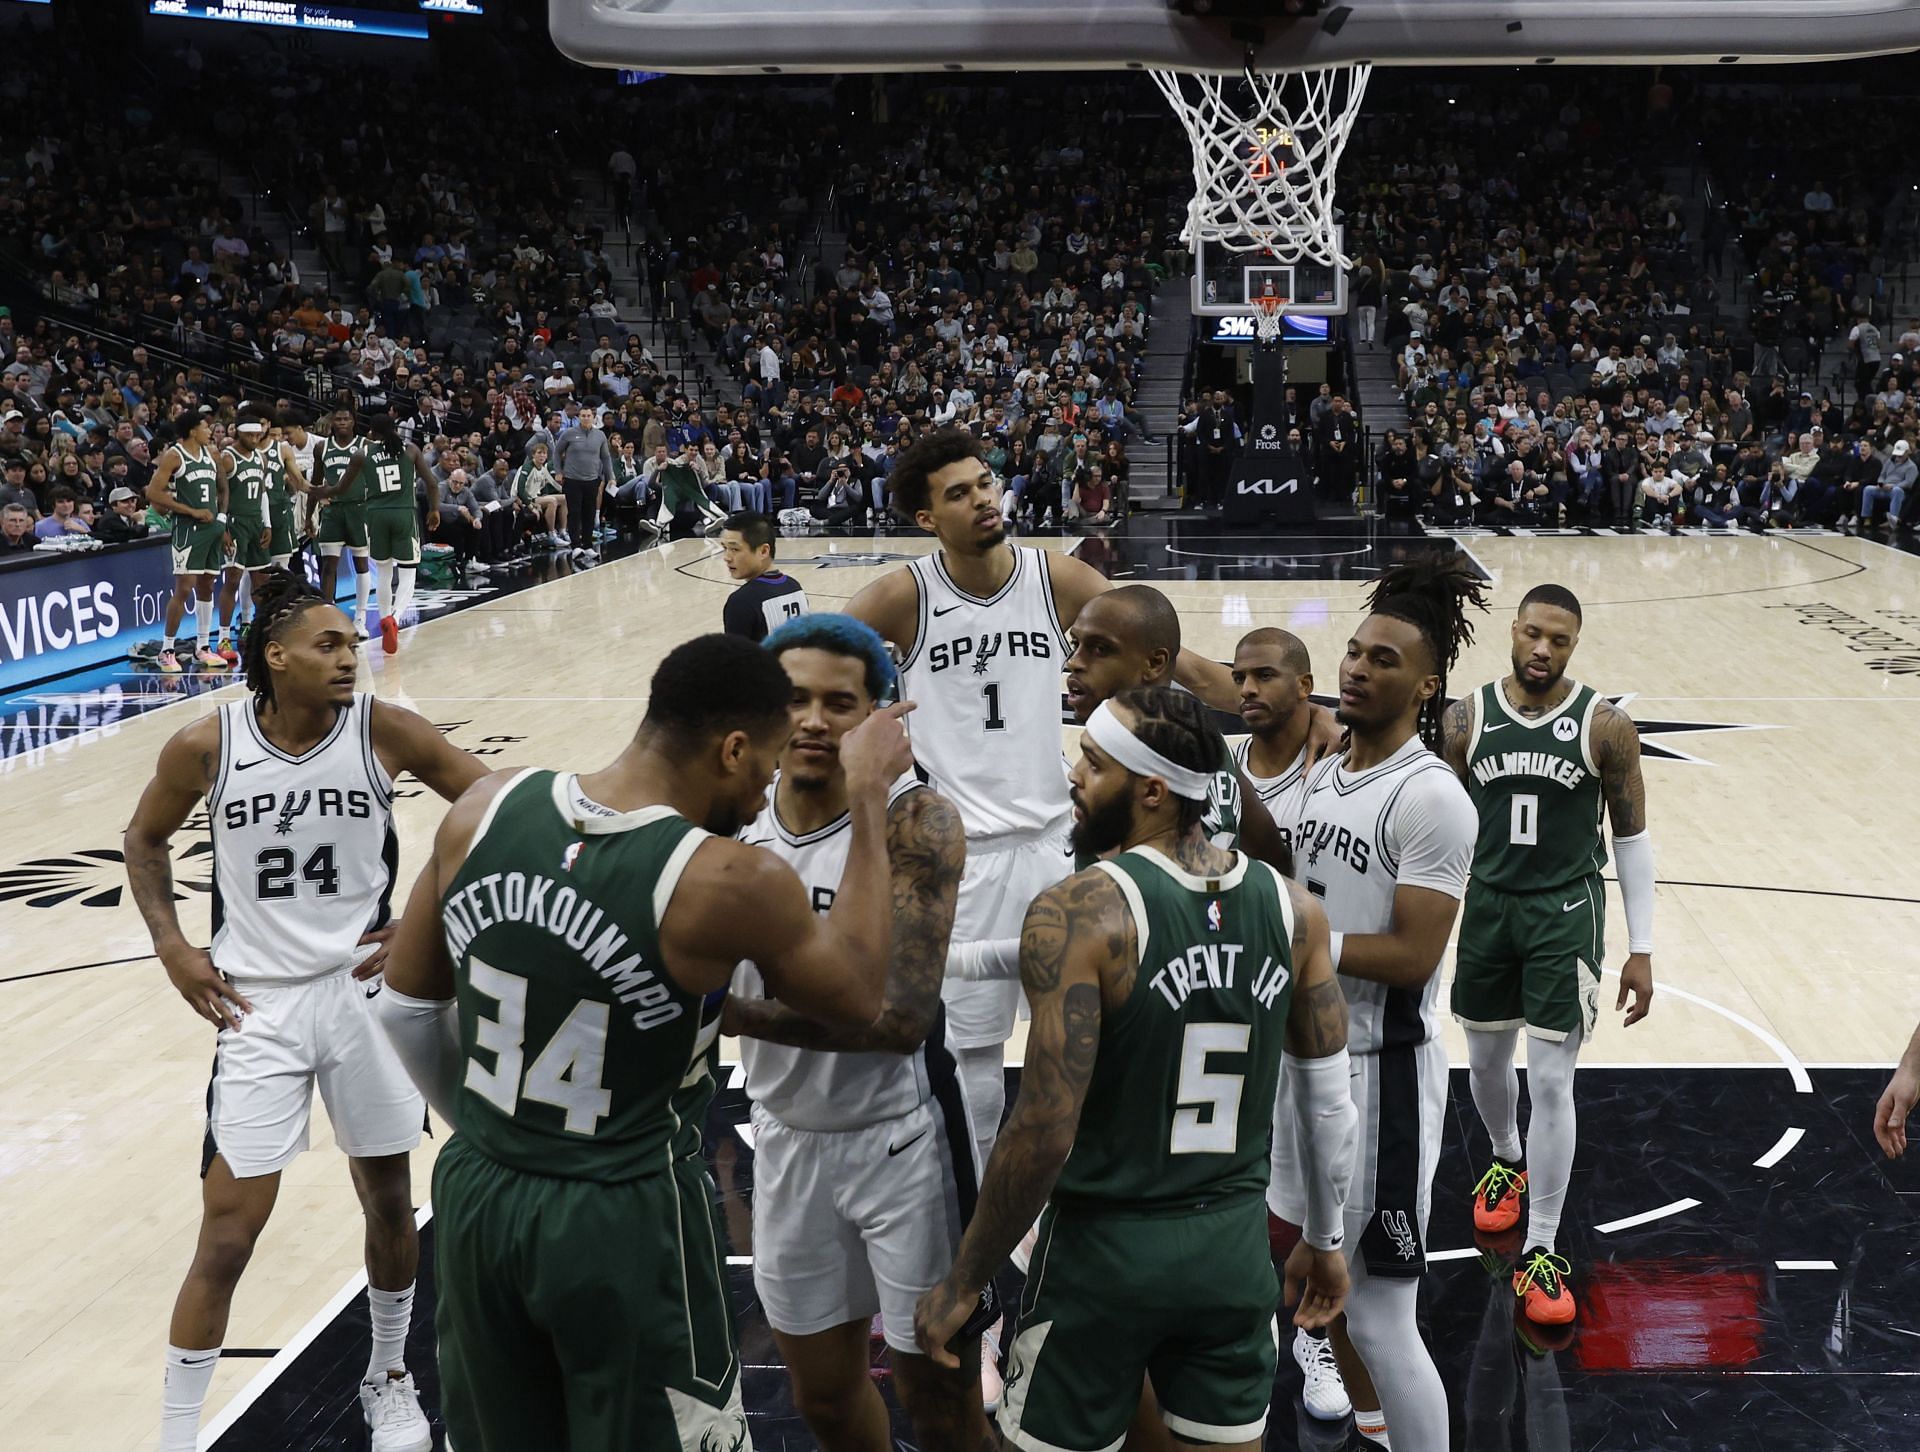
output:
[[[1676,104],[1715,138],[1693,227],[1667,171]],[[1914,522],[1920,330],[1874,273],[1910,206],[1897,136],[1914,109],[1882,108],[1876,140],[1836,156],[1778,108],[1655,83],[1638,111],[1603,81],[1369,106],[1340,182],[1356,327],[1398,355],[1407,407],[1375,453],[1384,513]],[[1793,171],[1782,134],[1814,138],[1788,148]],[[1822,359],[1839,359],[1826,378]]]

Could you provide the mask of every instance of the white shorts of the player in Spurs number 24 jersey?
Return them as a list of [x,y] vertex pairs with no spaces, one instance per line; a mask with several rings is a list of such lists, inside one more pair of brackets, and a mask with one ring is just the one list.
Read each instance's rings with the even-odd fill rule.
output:
[[378,978],[338,974],[267,987],[240,983],[253,1012],[221,1029],[207,1085],[204,1175],[219,1154],[234,1179],[273,1175],[307,1149],[319,1083],[334,1141],[355,1160],[420,1143],[426,1101],[372,1016]]

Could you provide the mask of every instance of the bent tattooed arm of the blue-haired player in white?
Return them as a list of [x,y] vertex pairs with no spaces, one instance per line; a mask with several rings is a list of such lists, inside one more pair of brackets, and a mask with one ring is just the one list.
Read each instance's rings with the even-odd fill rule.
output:
[[966,835],[952,803],[912,791],[887,814],[893,868],[893,951],[879,1016],[864,1028],[818,1024],[785,1004],[737,1001],[741,1033],[795,1049],[910,1054],[933,1028],[947,978],[947,939],[966,868]]

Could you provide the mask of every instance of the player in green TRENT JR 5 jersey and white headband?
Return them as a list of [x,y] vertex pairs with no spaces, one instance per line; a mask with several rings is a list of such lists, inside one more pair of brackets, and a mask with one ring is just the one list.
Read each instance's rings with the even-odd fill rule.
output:
[[1073,837],[1114,857],[1027,908],[1020,1099],[954,1268],[916,1310],[922,1348],[956,1364],[950,1339],[1044,1206],[998,1414],[1014,1446],[1119,1446],[1148,1371],[1169,1433],[1260,1446],[1281,1302],[1260,1156],[1283,1056],[1311,1141],[1286,1300],[1296,1323],[1325,1325],[1346,1296],[1354,1104],[1327,918],[1208,841],[1219,757],[1192,695],[1100,705],[1073,768]]

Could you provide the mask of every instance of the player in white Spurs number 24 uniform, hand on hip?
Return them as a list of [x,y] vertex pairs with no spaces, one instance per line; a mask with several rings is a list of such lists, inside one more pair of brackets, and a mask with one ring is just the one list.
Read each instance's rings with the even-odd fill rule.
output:
[[[127,878],[167,978],[219,1028],[207,1087],[202,1222],[173,1306],[161,1452],[194,1446],[232,1293],[280,1172],[307,1145],[315,1081],[367,1214],[372,1356],[361,1410],[374,1452],[432,1437],[405,1369],[420,1256],[407,1152],[424,1104],[372,1018],[397,859],[394,778],[449,801],[488,770],[430,722],[353,690],[351,622],[273,572],[246,641],[252,699],[177,732],[132,824]],[[173,908],[169,839],[205,797],[213,949]]]

